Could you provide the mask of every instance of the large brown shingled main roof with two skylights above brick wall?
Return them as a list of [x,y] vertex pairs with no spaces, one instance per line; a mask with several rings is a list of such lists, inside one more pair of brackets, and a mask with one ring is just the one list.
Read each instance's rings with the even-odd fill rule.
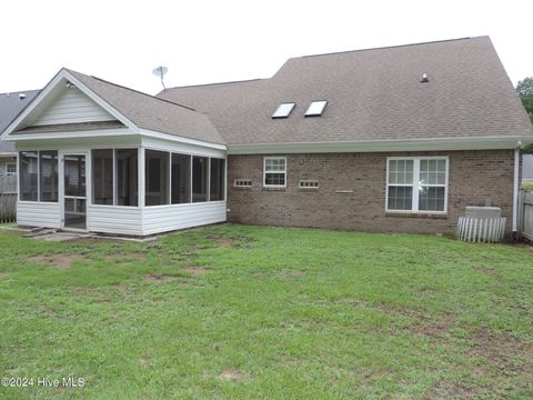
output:
[[[489,37],[292,58],[271,79],[158,97],[207,112],[229,144],[533,136]],[[305,118],[313,100],[328,107]],[[272,119],[283,102],[291,116]]]

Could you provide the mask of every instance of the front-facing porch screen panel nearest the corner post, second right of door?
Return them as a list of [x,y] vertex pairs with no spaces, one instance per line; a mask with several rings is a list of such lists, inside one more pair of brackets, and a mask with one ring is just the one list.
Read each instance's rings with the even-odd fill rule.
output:
[[119,206],[139,204],[139,173],[137,149],[117,150],[117,202]]

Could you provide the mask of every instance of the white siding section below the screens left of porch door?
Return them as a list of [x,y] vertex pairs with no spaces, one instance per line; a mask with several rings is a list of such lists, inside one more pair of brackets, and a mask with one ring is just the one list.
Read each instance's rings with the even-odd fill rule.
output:
[[61,204],[19,201],[17,203],[17,223],[27,227],[60,228]]

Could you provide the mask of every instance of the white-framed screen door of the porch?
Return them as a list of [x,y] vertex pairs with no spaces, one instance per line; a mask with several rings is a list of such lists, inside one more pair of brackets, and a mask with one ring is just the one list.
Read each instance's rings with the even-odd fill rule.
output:
[[63,156],[63,227],[87,229],[86,156]]

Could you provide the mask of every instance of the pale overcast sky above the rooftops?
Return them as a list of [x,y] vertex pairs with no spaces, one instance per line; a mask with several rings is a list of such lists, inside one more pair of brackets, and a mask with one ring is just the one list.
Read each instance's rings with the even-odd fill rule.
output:
[[533,76],[531,0],[10,0],[0,6],[0,92],[61,67],[154,94],[269,78],[290,57],[489,34],[513,81]]

